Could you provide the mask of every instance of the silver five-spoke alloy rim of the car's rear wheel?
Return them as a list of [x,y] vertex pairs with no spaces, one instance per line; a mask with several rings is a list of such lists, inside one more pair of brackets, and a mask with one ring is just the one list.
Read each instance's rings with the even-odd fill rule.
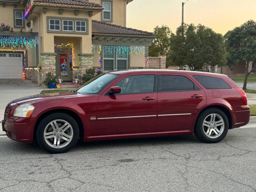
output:
[[203,131],[207,137],[211,139],[220,137],[224,131],[224,128],[224,120],[219,114],[212,113],[204,118]]

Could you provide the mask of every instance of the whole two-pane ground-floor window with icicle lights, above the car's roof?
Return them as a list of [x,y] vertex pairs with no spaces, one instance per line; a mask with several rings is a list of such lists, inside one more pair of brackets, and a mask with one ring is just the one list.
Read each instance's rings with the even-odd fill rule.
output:
[[103,46],[103,70],[123,70],[128,68],[128,50],[124,46]]

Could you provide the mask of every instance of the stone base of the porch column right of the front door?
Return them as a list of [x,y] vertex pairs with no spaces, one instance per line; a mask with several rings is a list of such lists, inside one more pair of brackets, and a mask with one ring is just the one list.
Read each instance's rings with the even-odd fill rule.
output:
[[[79,57],[79,75],[84,76],[84,74],[86,74],[86,69],[92,68],[93,54],[80,53],[78,54],[78,57]],[[80,83],[83,84],[84,82],[80,81]]]

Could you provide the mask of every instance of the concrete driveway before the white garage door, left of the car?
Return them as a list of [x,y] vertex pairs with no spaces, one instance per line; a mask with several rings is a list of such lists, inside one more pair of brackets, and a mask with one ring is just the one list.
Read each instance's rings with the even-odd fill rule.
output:
[[[28,79],[0,79],[0,120],[4,119],[4,109],[10,101],[39,94],[42,90],[42,86],[37,86]],[[2,125],[0,128],[1,132]]]

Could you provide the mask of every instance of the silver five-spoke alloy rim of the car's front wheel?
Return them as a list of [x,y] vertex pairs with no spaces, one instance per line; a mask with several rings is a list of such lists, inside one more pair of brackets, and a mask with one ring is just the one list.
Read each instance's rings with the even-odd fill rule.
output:
[[72,138],[73,128],[65,120],[53,120],[44,128],[44,140],[52,148],[63,148]]

